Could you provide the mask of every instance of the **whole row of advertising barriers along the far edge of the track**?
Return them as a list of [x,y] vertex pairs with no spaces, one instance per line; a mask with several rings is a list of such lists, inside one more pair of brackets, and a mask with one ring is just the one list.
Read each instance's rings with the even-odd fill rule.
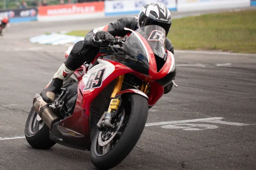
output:
[[[60,0],[58,1],[60,2]],[[109,0],[2,10],[0,11],[0,18],[9,17],[10,22],[25,22],[33,20],[56,21],[93,19],[129,14],[137,15],[142,6],[151,1],[163,3],[172,11],[197,11],[256,5],[256,0]],[[52,0],[51,2],[54,3],[57,1]]]

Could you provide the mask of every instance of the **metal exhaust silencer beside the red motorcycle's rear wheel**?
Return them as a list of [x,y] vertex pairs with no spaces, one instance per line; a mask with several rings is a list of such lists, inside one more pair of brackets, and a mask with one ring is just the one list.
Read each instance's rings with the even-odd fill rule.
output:
[[52,130],[52,125],[55,122],[58,122],[60,118],[54,113],[52,108],[47,105],[47,102],[44,102],[39,94],[34,96],[33,106],[35,112],[38,113],[44,123],[49,127],[50,130]]

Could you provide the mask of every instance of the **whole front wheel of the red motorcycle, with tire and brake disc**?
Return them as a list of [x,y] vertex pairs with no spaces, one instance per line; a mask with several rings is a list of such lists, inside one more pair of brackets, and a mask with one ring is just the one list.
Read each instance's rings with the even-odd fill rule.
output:
[[148,118],[148,100],[139,94],[125,94],[111,129],[96,130],[90,148],[91,161],[99,169],[122,162],[134,148]]

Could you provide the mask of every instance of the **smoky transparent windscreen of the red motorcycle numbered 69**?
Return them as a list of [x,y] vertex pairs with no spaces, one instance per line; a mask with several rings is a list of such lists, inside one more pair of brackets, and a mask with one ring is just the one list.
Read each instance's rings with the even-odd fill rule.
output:
[[[155,56],[164,58],[165,51],[165,30],[160,26],[144,26],[136,30],[138,34],[151,46]],[[144,42],[138,34],[132,33],[123,45],[123,49],[127,52],[124,60],[120,62],[135,71],[142,74],[148,74],[149,71],[149,56],[146,51]],[[117,54],[116,56],[119,56]]]

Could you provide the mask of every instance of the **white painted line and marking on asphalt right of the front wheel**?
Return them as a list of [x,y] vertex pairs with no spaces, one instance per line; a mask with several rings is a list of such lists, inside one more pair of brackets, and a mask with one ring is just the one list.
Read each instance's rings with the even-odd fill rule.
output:
[[[147,123],[145,126],[157,126],[162,125],[162,128],[165,129],[183,129],[183,130],[206,130],[206,129],[216,129],[217,125],[209,125],[203,124],[222,124],[222,125],[233,125],[233,126],[248,126],[255,124],[245,124],[245,123],[236,123],[236,122],[227,122],[223,121],[223,117],[211,117],[204,119],[191,119],[191,120],[177,120],[170,122],[155,122],[155,123]],[[203,122],[203,123],[202,123]]]

